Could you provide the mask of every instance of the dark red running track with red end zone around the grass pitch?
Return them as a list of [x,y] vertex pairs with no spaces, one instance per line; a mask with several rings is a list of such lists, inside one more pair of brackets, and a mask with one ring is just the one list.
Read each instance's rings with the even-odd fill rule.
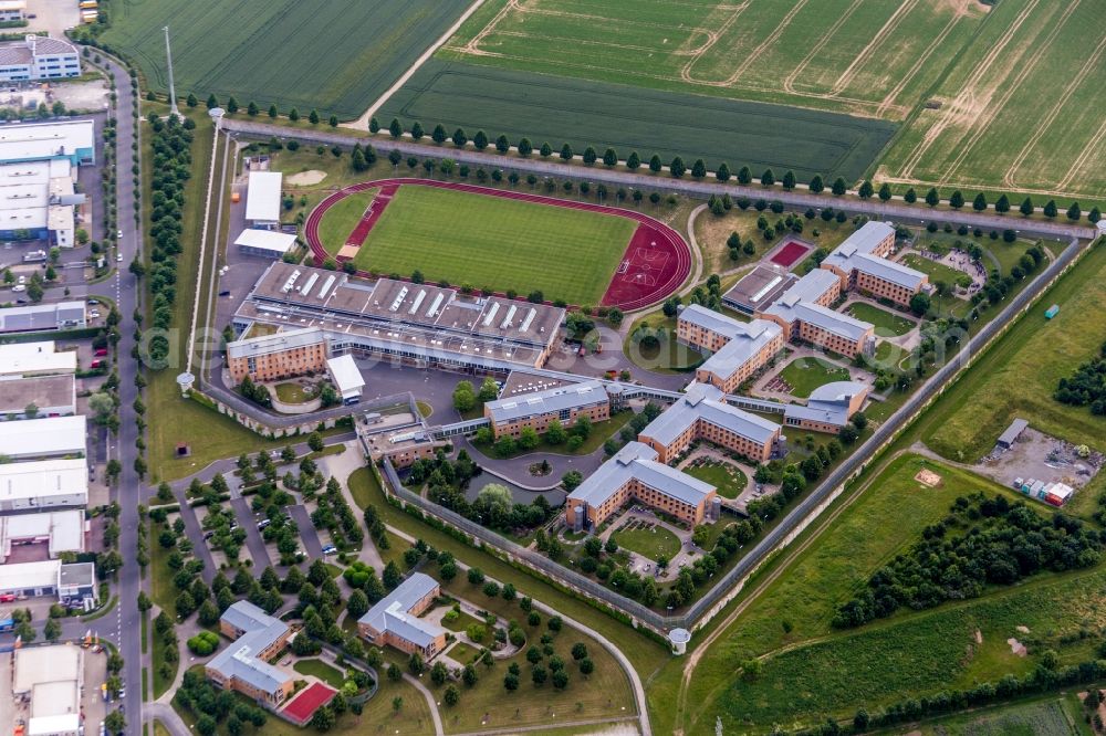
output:
[[[488,187],[479,187],[477,185],[461,183],[458,181],[435,181],[432,179],[403,178],[363,181],[361,183],[346,187],[345,189],[341,189],[321,201],[319,206],[311,211],[311,214],[307,215],[307,220],[304,223],[304,235],[307,239],[307,245],[311,248],[312,254],[315,256],[315,263],[321,264],[328,257],[326,249],[323,248],[323,243],[319,238],[319,223],[322,221],[323,215],[327,210],[349,194],[366,191],[368,189],[379,188],[382,190],[387,190],[389,191],[390,199],[390,194],[394,193],[398,187],[404,185],[437,187],[438,189],[451,189],[453,191],[465,191],[473,194],[502,197],[503,199],[514,199],[536,204],[549,204],[551,207],[563,207],[565,209],[583,210],[585,212],[598,212],[601,214],[612,214],[634,220],[638,223],[637,230],[635,230],[634,236],[630,239],[630,242],[626,248],[626,252],[623,254],[623,260],[619,262],[616,273],[612,274],[611,284],[607,286],[607,291],[601,301],[603,306],[617,306],[624,312],[629,312],[648,306],[649,304],[655,304],[668,297],[677,288],[679,288],[680,284],[682,284],[688,277],[688,274],[691,273],[691,249],[688,246],[684,238],[664,222],[635,210],[624,210],[617,207],[592,204],[589,202],[572,202],[563,199],[554,199],[553,197],[543,197],[542,194],[503,191],[501,189],[491,189]],[[354,232],[351,233],[351,243],[353,242],[354,236],[362,232],[363,227],[366,224],[366,219],[374,213],[374,210],[375,217],[373,217],[367,227],[365,227],[364,234],[359,235],[361,240],[357,244],[359,245],[365,241],[368,232],[378,221],[379,214],[384,211],[383,207],[378,209],[375,207],[369,208],[369,211],[367,211],[361,222],[357,223]],[[365,271],[358,271],[357,275],[368,277],[369,274]]]

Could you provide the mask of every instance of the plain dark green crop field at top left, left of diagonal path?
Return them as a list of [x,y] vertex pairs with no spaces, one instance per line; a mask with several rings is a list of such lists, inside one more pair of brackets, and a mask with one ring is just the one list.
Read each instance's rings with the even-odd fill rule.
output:
[[233,95],[243,108],[275,104],[301,115],[357,117],[465,11],[468,0],[234,2],[115,0],[103,41],[133,56],[158,92],[167,88],[165,39],[173,34],[177,93],[201,103]]

